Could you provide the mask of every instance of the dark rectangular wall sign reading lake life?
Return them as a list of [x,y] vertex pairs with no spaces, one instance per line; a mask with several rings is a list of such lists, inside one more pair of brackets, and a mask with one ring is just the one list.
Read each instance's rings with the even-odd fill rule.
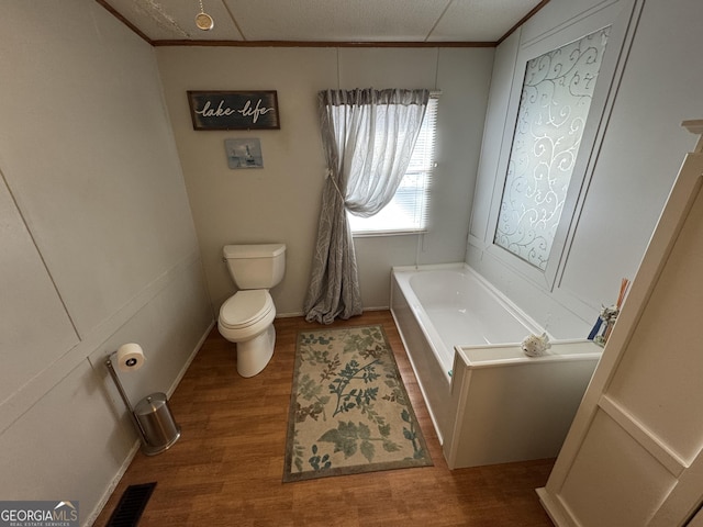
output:
[[193,130],[279,130],[276,91],[188,91]]

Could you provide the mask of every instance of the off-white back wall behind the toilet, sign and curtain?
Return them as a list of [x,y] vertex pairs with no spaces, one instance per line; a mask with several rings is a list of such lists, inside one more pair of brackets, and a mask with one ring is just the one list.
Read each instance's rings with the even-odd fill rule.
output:
[[[442,90],[433,227],[423,236],[357,238],[364,305],[389,305],[393,265],[461,261],[483,130],[492,48],[158,47],[166,101],[215,310],[235,287],[222,246],[283,242],[279,314],[300,314],[317,231],[324,157],[316,93],[328,88]],[[279,131],[193,131],[187,90],[277,90]],[[264,168],[231,170],[224,139],[258,137]]]

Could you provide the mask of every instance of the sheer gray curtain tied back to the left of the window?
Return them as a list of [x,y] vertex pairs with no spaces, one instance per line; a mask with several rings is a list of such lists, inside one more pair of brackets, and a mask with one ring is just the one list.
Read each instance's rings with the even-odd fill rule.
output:
[[303,305],[323,324],[362,310],[346,211],[372,216],[405,175],[425,115],[428,90],[326,90],[317,96],[327,179]]

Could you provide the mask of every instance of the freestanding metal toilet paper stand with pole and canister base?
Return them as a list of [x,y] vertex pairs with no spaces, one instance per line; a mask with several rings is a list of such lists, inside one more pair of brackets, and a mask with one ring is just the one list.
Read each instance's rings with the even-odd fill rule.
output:
[[142,451],[146,456],[156,456],[168,450],[180,437],[180,426],[174,421],[166,394],[157,392],[142,399],[136,407],[132,406],[120,377],[114,369],[118,351],[110,354],[105,360],[108,371],[118,386],[124,405],[130,411],[132,424],[142,440]]

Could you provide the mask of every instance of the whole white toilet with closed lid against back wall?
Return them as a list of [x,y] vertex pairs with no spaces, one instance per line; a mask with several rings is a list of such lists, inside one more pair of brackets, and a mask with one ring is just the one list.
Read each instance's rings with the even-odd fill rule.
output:
[[222,304],[217,329],[237,345],[237,372],[254,377],[274,356],[276,306],[268,290],[283,278],[286,245],[225,245],[222,251],[239,291]]

